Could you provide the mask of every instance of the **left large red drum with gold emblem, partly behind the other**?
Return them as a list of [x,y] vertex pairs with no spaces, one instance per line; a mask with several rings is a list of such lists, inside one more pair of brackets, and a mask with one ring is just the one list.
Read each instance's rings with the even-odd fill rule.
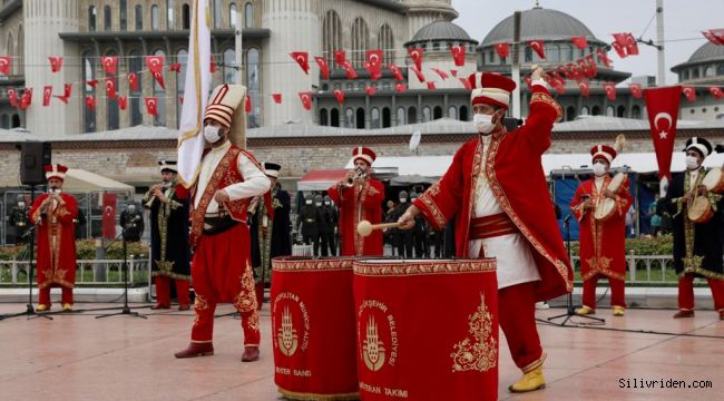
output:
[[272,260],[274,382],[293,400],[358,399],[351,258]]

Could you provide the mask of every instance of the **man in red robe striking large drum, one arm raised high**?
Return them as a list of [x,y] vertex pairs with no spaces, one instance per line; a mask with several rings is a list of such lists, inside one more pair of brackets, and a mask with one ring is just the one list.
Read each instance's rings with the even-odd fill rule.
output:
[[573,271],[548,194],[541,156],[550,146],[560,106],[532,72],[526,125],[501,124],[516,84],[497,74],[470,76],[473,121],[480,135],[463,144],[448,172],[400,217],[411,228],[422,215],[434,229],[456,216],[458,257],[496,257],[500,327],[522,378],[511,392],[545,387],[546,358],[536,329],[535,303],[573,290]]

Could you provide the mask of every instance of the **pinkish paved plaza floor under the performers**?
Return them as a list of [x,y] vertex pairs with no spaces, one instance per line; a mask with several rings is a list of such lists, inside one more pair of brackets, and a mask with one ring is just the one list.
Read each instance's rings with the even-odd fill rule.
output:
[[[57,307],[58,305],[53,305]],[[76,309],[115,306],[76,304]],[[25,311],[0,304],[0,314]],[[148,309],[134,310],[141,313]],[[232,312],[223,305],[217,313]],[[515,395],[508,384],[519,376],[500,335],[501,400],[722,400],[724,321],[713,311],[673,320],[671,310],[628,310],[590,330],[539,324],[548,385]],[[241,363],[239,321],[217,317],[214,356],[177,360],[194,321],[190,312],[163,312],[148,319],[127,315],[96,320],[101,312],[26,316],[0,321],[2,400],[277,400],[270,341],[268,304],[261,317],[262,358]],[[540,319],[565,313],[538,311]],[[581,322],[580,317],[574,317]],[[558,320],[560,321],[560,320]],[[613,329],[613,330],[612,330]],[[654,331],[659,333],[653,333]],[[655,388],[642,388],[649,381]],[[685,388],[667,388],[683,381]],[[689,388],[691,385],[691,388]],[[696,385],[696,388],[694,388]],[[711,385],[710,388],[701,387]]]

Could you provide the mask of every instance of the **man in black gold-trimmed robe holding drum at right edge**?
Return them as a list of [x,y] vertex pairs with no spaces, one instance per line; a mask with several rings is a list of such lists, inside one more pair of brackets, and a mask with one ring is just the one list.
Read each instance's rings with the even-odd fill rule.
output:
[[[722,225],[722,196],[711,193],[704,182],[702,164],[712,153],[712,145],[704,138],[693,137],[686,141],[686,172],[675,175],[664,199],[664,206],[673,216],[674,267],[678,274],[678,312],[674,319],[694,317],[694,277],[705,277],[714,296],[714,309],[724,320],[724,225]],[[712,217],[696,223],[689,217],[689,208],[696,196],[706,199]]]

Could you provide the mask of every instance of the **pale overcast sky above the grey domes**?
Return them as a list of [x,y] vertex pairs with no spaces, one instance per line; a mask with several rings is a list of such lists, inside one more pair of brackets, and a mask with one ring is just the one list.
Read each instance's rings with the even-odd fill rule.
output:
[[[482,41],[498,22],[516,10],[528,10],[535,0],[452,0],[460,17],[453,22],[464,28],[476,40]],[[630,31],[636,38],[644,32],[654,17],[656,0],[540,0],[542,8],[568,13],[590,29],[596,38],[612,42],[612,33]],[[723,0],[664,0],[664,38],[666,52],[666,84],[675,84],[677,77],[671,68],[686,61],[706,42],[702,30],[724,28]],[[686,41],[669,41],[692,39]],[[656,20],[643,36],[656,40]],[[639,56],[620,59],[609,52],[614,68],[634,76],[656,76],[656,49],[638,45]]]

